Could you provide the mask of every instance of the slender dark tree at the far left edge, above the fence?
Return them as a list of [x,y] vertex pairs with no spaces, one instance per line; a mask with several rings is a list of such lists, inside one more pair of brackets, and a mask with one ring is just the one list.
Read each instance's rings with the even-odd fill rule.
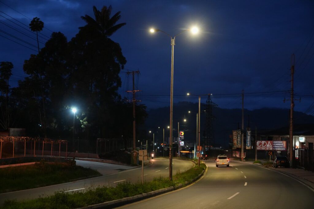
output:
[[[9,108],[8,108],[8,94],[9,94],[9,79],[12,75],[12,62],[0,62],[0,79],[1,79],[1,93],[5,93],[5,99],[1,99],[2,119],[1,126],[7,130],[10,123]],[[3,100],[5,100],[5,113],[3,113]]]

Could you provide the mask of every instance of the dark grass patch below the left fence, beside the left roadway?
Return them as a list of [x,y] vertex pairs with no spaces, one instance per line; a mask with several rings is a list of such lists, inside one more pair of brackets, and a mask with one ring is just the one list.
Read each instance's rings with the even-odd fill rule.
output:
[[0,169],[0,193],[25,190],[69,182],[73,179],[100,174],[98,171],[68,163],[40,163]]

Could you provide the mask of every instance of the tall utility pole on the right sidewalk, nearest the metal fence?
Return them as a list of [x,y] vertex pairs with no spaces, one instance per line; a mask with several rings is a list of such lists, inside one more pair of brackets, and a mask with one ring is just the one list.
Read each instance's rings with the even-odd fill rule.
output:
[[291,92],[290,92],[290,133],[289,133],[289,152],[290,152],[290,167],[293,166],[293,108],[294,108],[294,100],[293,100],[293,74],[294,74],[294,62],[295,62],[295,55],[291,55]]

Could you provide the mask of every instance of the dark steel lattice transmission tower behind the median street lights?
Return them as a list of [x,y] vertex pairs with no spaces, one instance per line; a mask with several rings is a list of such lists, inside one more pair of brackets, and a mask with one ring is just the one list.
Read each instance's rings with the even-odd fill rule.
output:
[[206,100],[206,126],[204,130],[204,147],[206,153],[209,153],[210,147],[215,145],[213,120],[216,118],[213,115],[213,107],[216,107],[217,105],[211,100],[210,95],[211,94],[208,94]]

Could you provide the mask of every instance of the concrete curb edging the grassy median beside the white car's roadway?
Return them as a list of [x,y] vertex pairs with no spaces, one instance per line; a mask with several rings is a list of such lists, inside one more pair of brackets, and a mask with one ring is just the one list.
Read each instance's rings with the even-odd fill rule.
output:
[[197,177],[192,179],[190,182],[185,182],[184,185],[183,184],[179,184],[179,185],[176,185],[176,186],[172,186],[172,187],[168,187],[168,188],[164,188],[164,189],[160,189],[160,190],[151,191],[151,192],[148,192],[148,193],[136,195],[136,196],[133,196],[133,197],[125,197],[125,198],[119,199],[119,200],[112,200],[112,201],[108,201],[108,202],[99,203],[99,204],[96,204],[96,205],[81,207],[79,209],[115,208],[115,207],[123,206],[123,205],[126,205],[126,204],[130,204],[130,203],[133,203],[133,202],[136,202],[136,201],[140,201],[140,200],[143,200],[143,199],[147,199],[147,198],[150,198],[150,197],[154,197],[154,196],[157,196],[157,195],[161,195],[161,194],[173,191],[173,190],[180,189],[180,188],[182,188],[184,186],[187,186],[187,185],[193,183],[194,181],[198,180],[204,174],[205,170],[206,169],[204,169],[201,174],[199,174]]

